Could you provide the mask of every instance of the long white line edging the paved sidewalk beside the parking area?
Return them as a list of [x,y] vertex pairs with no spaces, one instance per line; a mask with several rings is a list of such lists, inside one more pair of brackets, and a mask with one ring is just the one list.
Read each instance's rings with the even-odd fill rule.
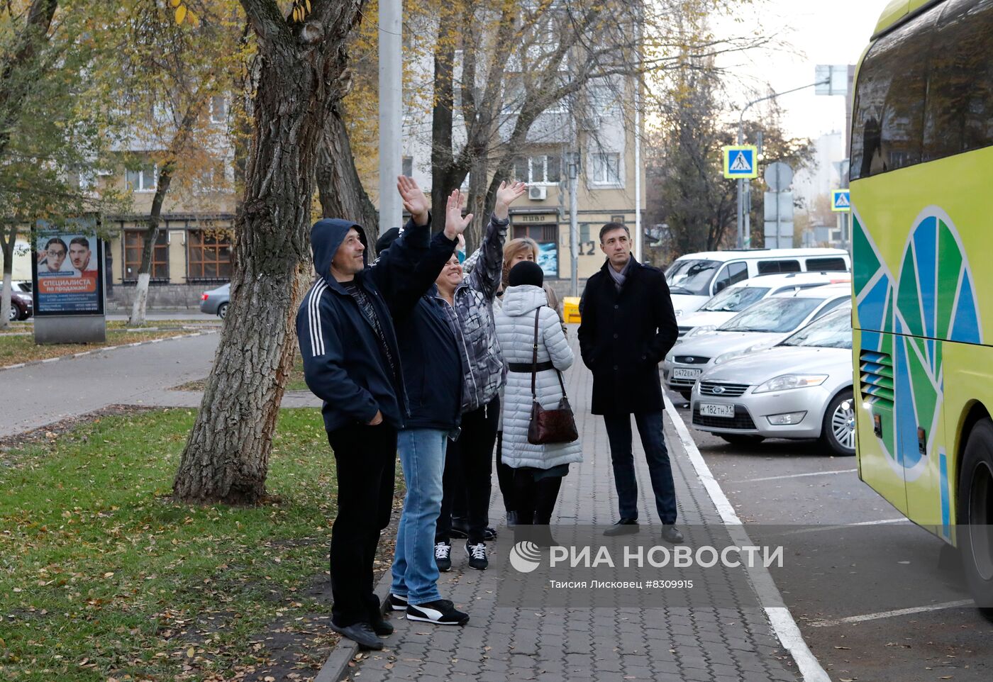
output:
[[[696,476],[703,483],[704,488],[706,488],[711,501],[721,514],[721,519],[725,525],[732,526],[728,529],[732,538],[736,540],[740,547],[753,545],[754,543],[748,537],[748,532],[742,525],[741,519],[738,518],[734,506],[732,506],[727,495],[724,494],[724,490],[721,489],[717,479],[714,478],[703,456],[700,455],[700,451],[697,449],[696,443],[694,443],[693,437],[689,433],[689,429],[686,428],[686,424],[683,422],[682,417],[679,416],[679,413],[676,412],[676,408],[672,405],[672,401],[668,399],[668,396],[665,396],[665,411],[669,414],[672,426],[675,428],[679,436],[679,441],[686,450],[686,455],[689,456],[690,464],[693,465]],[[796,667],[803,676],[804,682],[831,682],[827,671],[817,661],[816,656],[813,655],[810,647],[803,640],[800,628],[797,627],[796,620],[789,613],[789,609],[785,607],[780,590],[776,587],[769,569],[761,566],[749,568],[748,576],[762,604],[782,605],[765,607],[766,616],[769,618],[769,622],[773,626],[773,631],[779,637],[783,648],[789,651],[793,660],[796,661]]]

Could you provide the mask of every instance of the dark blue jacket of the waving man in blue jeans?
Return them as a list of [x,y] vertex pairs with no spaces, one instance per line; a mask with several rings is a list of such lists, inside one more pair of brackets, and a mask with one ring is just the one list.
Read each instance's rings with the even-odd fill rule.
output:
[[409,314],[400,313],[394,318],[403,383],[410,401],[410,416],[403,423],[405,429],[451,430],[462,421],[463,364],[458,346],[462,333],[454,329],[454,320],[449,319],[445,310],[451,306],[436,297],[434,286],[457,243],[442,232],[431,239],[409,287],[412,295],[424,294],[425,288],[430,290],[418,296]]

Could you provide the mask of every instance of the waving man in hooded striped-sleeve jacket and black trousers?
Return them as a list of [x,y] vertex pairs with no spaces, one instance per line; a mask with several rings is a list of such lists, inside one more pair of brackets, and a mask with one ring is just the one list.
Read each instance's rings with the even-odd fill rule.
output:
[[372,591],[379,531],[393,503],[396,434],[411,414],[392,318],[409,314],[412,285],[430,233],[427,199],[409,178],[397,189],[410,211],[403,235],[366,267],[365,233],[350,220],[325,218],[311,229],[318,277],[297,313],[308,387],[322,414],[338,474],[332,527],[332,627],[364,648],[382,648],[382,619]]

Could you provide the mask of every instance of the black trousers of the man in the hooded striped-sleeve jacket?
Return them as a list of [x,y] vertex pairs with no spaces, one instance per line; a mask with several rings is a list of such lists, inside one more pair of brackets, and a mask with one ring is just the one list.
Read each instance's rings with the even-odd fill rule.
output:
[[396,430],[386,424],[328,432],[338,472],[338,517],[331,530],[331,618],[339,627],[379,619],[372,562],[389,525],[396,473]]

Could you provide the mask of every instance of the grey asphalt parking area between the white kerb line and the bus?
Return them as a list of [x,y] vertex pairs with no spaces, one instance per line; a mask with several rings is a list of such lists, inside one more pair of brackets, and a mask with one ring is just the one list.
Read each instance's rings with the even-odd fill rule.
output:
[[[685,401],[669,397],[689,426]],[[854,457],[810,441],[743,449],[690,433],[752,539],[785,548],[774,579],[833,680],[993,679],[993,623],[946,606],[968,600],[953,553],[860,481]]]

